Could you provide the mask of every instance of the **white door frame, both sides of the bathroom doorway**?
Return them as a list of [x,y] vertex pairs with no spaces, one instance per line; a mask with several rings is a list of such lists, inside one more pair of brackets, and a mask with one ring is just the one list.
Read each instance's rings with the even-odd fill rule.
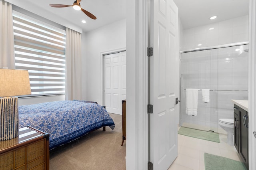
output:
[[[148,0],[126,0],[126,169],[146,170],[148,163],[148,127],[146,113],[147,93],[139,90],[147,85],[145,57],[148,46]],[[250,0],[249,12],[249,112],[256,112],[256,2]],[[138,115],[139,113],[139,115]],[[138,119],[137,119],[138,118]],[[256,130],[256,115],[249,118],[249,168],[256,169],[256,138],[251,133]],[[140,136],[141,135],[141,136]],[[252,139],[254,138],[254,139]],[[254,142],[253,142],[254,141]]]

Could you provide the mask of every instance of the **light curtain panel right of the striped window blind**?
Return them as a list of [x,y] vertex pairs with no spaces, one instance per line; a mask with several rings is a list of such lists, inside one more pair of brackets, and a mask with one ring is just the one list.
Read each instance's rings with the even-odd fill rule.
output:
[[82,99],[81,34],[66,28],[66,100]]

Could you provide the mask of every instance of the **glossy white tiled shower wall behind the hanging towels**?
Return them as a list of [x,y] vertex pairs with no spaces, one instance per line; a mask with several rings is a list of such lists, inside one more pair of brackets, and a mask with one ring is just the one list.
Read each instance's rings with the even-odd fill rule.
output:
[[[208,30],[213,26],[214,30]],[[248,16],[183,30],[182,42],[184,48],[193,49],[199,43],[207,47],[244,41],[248,41]],[[186,88],[248,90],[248,53],[244,49],[248,45],[182,53],[181,101],[186,101]],[[186,115],[185,102],[181,102],[181,125],[202,125],[203,130],[220,131],[219,119],[233,119],[231,99],[248,99],[248,92],[210,91],[210,102],[203,103],[199,91],[197,116]]]

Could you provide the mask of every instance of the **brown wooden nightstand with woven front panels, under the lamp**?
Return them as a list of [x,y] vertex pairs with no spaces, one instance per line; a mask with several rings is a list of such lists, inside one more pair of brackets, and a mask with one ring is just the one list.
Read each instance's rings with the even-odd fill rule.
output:
[[0,170],[49,170],[49,134],[32,127],[0,141]]

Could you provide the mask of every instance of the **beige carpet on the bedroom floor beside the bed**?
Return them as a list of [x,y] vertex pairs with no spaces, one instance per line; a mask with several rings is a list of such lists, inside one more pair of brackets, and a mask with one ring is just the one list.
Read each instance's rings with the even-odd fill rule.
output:
[[90,132],[50,150],[50,170],[125,170],[126,141],[122,144],[122,115],[111,114],[116,127]]

